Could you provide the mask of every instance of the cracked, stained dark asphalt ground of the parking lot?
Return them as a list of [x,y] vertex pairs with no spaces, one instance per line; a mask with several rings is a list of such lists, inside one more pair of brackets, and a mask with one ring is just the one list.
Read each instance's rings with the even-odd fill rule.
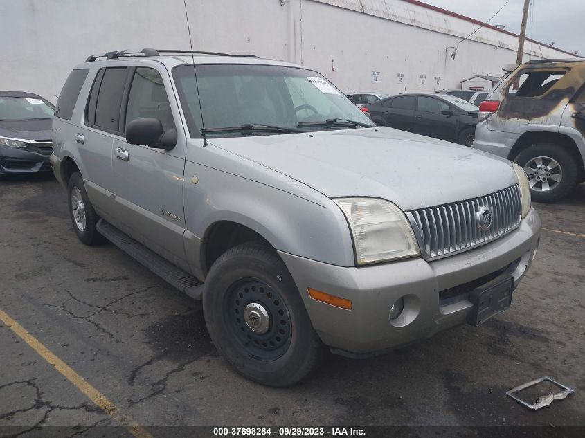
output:
[[[1,179],[0,207],[0,311],[115,405],[99,408],[0,322],[0,435],[38,426],[84,435],[118,425],[116,415],[145,430],[585,425],[585,185],[536,206],[541,246],[509,311],[377,358],[328,356],[286,389],[235,374],[210,342],[199,302],[110,244],[81,244],[52,176]],[[536,412],[505,395],[541,376],[576,392]]]

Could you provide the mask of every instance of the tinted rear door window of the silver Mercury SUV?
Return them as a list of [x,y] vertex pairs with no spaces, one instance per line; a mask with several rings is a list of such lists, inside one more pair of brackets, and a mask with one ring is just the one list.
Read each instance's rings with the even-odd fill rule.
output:
[[120,130],[120,104],[126,84],[126,73],[126,67],[105,69],[96,102],[96,120],[93,122],[98,129],[111,132]]

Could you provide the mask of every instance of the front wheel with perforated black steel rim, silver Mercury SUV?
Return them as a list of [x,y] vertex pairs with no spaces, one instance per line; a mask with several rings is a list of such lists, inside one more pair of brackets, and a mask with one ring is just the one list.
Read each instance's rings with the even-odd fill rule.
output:
[[321,362],[323,345],[280,257],[267,246],[228,250],[206,277],[203,309],[219,353],[247,378],[293,385]]

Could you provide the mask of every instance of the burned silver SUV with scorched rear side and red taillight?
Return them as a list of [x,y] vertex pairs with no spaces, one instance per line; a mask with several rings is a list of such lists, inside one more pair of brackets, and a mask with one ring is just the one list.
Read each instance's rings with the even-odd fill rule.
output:
[[521,165],[534,201],[559,201],[585,181],[585,60],[505,70],[480,103],[473,147]]

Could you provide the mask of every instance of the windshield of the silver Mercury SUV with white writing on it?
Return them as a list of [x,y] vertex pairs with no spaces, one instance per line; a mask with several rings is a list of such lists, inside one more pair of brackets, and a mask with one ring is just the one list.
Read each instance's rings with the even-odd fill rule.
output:
[[[348,129],[347,123],[325,124],[332,119],[375,126],[351,100],[314,71],[285,66],[206,64],[195,66],[195,73],[192,65],[173,70],[192,137],[199,137],[201,129],[213,136],[277,134],[274,131],[209,132],[242,125],[303,131]],[[323,122],[323,125],[299,126],[303,122]]]

